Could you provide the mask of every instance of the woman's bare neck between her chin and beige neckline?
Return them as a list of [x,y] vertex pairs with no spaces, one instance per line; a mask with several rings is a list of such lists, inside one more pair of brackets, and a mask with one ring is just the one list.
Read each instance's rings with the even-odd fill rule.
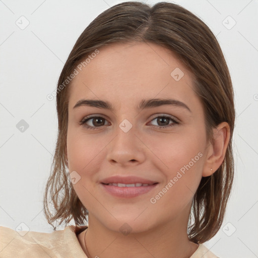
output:
[[132,231],[123,235],[104,227],[89,215],[89,228],[86,234],[85,231],[80,234],[80,242],[88,258],[113,258],[114,254],[128,258],[189,258],[197,250],[198,244],[189,241],[186,230],[184,233],[180,225],[171,222],[144,232]]

